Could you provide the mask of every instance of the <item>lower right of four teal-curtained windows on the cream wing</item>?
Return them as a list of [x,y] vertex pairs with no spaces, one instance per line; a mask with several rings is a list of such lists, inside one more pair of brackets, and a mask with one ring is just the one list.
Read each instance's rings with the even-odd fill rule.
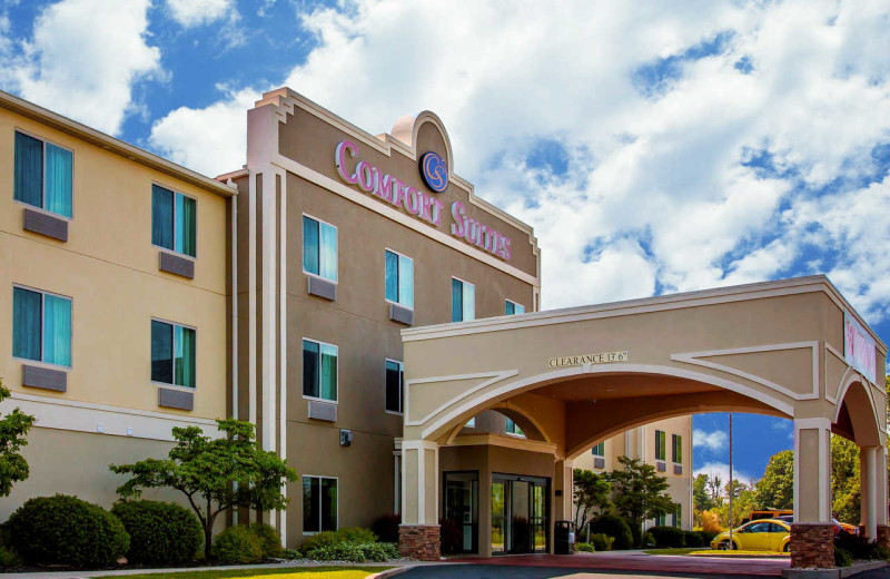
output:
[[195,342],[191,327],[151,321],[151,382],[195,387]]

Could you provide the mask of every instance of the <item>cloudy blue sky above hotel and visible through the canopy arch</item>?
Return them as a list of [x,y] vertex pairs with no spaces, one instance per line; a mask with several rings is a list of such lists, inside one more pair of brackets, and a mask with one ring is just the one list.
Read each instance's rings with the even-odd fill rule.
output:
[[[375,134],[435,111],[547,308],[824,273],[884,341],[888,46],[880,0],[0,0],[0,88],[206,174],[280,86]],[[782,428],[740,418],[736,468]]]

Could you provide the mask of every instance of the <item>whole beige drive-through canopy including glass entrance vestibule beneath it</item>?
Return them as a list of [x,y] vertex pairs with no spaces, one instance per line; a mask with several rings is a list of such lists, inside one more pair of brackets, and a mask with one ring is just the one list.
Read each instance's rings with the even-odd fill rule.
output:
[[[574,458],[718,411],[793,420],[793,567],[833,566],[832,433],[861,450],[866,534],[890,541],[887,345],[823,276],[411,328],[403,342],[404,555],[439,557],[446,511],[466,552],[552,552],[554,522],[572,519]],[[464,428],[486,411],[525,436]],[[527,524],[511,533],[511,513]]]

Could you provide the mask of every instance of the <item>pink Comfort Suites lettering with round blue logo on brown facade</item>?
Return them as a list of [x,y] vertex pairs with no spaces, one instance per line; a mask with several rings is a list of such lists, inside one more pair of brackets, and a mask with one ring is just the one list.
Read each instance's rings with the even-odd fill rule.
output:
[[[354,143],[344,140],[337,145],[334,163],[337,166],[337,175],[344,183],[399,207],[408,215],[413,215],[433,227],[442,226],[443,214],[446,212],[444,203],[411,183],[392,175],[384,175],[379,168],[366,160],[356,161],[357,156],[358,148]],[[418,165],[421,177],[429,190],[442,193],[447,188],[448,167],[442,157],[435,153],[426,153],[421,156]],[[452,203],[448,213],[453,236],[502,259],[510,259],[510,237],[467,217],[466,207],[461,202]]]

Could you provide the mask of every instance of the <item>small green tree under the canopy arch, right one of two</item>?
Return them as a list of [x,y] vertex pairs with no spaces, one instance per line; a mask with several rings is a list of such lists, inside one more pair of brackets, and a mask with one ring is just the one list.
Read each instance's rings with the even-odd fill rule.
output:
[[655,467],[639,459],[619,457],[622,470],[606,474],[614,490],[615,508],[641,529],[643,521],[664,516],[674,510],[674,501],[665,492],[668,478],[655,472]]

